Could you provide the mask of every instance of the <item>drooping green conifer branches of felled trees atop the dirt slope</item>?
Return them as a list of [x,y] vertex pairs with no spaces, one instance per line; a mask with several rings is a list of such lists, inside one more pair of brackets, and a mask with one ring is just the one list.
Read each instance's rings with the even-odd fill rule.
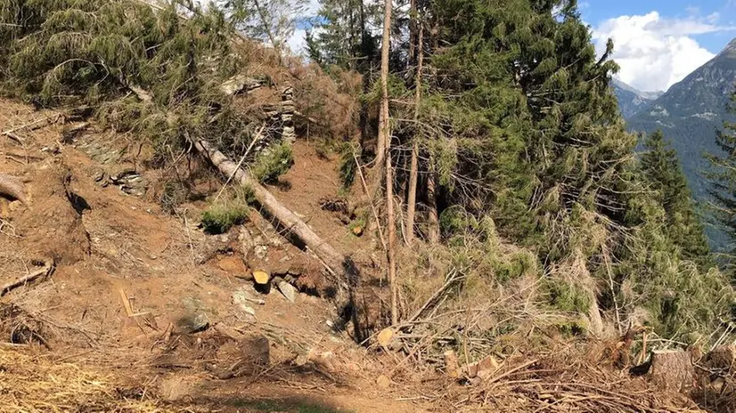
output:
[[45,106],[92,105],[103,126],[151,141],[162,158],[189,137],[232,153],[252,119],[218,85],[246,61],[225,13],[190,5],[12,0],[0,13],[0,86]]

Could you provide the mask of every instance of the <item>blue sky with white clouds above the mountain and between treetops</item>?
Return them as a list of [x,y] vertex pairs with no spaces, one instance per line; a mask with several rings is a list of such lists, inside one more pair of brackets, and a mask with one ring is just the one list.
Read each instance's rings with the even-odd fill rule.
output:
[[[309,0],[315,14],[318,0]],[[736,37],[736,0],[578,0],[593,43],[603,53],[614,41],[617,77],[635,88],[666,91],[711,60]],[[289,39],[305,46],[305,28]]]

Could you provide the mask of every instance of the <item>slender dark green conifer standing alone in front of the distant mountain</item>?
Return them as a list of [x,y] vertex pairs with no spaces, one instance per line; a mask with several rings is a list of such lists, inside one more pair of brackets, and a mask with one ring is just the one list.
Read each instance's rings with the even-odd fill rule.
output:
[[679,247],[683,257],[697,263],[708,263],[709,247],[703,225],[695,212],[687,179],[677,153],[665,142],[661,131],[644,141],[642,173],[666,213],[667,236]]

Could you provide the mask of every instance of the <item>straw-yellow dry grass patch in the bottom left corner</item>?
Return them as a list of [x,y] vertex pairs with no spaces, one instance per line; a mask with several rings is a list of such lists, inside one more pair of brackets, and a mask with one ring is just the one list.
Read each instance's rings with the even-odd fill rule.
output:
[[144,400],[143,394],[131,398],[126,393],[100,372],[0,345],[0,412],[174,411]]

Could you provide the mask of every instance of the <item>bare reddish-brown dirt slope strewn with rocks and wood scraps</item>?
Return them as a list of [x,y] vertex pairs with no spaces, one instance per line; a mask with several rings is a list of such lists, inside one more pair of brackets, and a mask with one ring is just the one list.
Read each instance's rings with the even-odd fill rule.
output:
[[[24,182],[29,198],[28,205],[3,201],[0,282],[33,271],[34,263],[55,263],[51,278],[12,290],[0,303],[0,341],[15,343],[3,349],[5,360],[16,358],[12,352],[38,360],[36,370],[19,370],[16,378],[45,377],[73,363],[71,371],[117,389],[90,392],[82,401],[60,396],[58,406],[72,410],[92,401],[131,411],[418,409],[376,390],[373,370],[380,363],[347,332],[330,327],[337,322],[330,304],[307,294],[292,304],[275,288],[262,295],[247,279],[246,263],[284,273],[298,268],[304,290],[319,292],[318,262],[256,214],[247,226],[208,236],[196,227],[204,201],[184,205],[176,215],[164,213],[157,187],[162,172],[144,166],[146,148],[131,136],[94,126],[71,134],[78,123],[56,115],[0,101],[3,130],[50,120],[48,126],[17,131],[18,140],[0,138],[0,173]],[[359,241],[349,238],[343,224],[321,214],[318,199],[335,193],[334,167],[302,169],[299,151],[305,150],[310,149],[298,146],[297,167],[287,176],[291,189],[274,192],[299,214],[313,216],[319,231],[334,232],[328,238],[341,239],[343,251],[360,249],[350,244]],[[320,176],[309,176],[315,169]],[[315,178],[324,187],[307,185]],[[211,176],[198,186],[203,192],[219,189]],[[306,192],[315,188],[324,191]],[[256,250],[265,254],[252,256]],[[226,326],[238,339],[266,336],[266,365],[246,372],[243,360],[257,352],[246,343],[255,342],[228,338],[216,326]],[[70,371],[59,374],[74,382]],[[75,392],[87,394],[86,382],[80,383]],[[20,394],[25,397],[0,411],[49,408],[43,401],[49,394]],[[307,405],[324,409],[304,410]]]

